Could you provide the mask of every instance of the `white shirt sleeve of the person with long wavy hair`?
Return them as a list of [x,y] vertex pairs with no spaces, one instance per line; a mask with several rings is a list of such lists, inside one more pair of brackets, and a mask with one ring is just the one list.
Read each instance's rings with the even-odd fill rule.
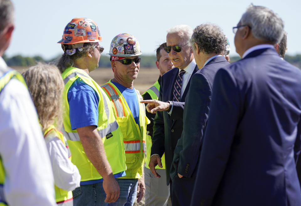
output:
[[68,149],[58,137],[45,137],[53,170],[55,186],[72,191],[80,186],[81,175],[68,158]]

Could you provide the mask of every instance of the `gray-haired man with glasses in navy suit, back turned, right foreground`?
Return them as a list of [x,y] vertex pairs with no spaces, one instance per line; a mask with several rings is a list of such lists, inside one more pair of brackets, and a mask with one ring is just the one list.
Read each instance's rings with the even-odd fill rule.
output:
[[283,22],[251,5],[233,32],[242,59],[215,75],[191,205],[301,205],[301,71],[273,46]]

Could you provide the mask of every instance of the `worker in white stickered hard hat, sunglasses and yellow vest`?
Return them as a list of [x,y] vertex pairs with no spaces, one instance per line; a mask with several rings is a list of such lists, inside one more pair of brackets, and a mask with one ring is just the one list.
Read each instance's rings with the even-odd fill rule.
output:
[[[102,86],[111,99],[114,115],[124,138],[126,175],[118,178],[120,198],[118,205],[139,203],[145,192],[143,177],[146,125],[145,106],[133,86],[140,67],[140,45],[130,34],[121,33],[111,42],[111,66],[114,78]],[[136,193],[137,191],[137,193]]]

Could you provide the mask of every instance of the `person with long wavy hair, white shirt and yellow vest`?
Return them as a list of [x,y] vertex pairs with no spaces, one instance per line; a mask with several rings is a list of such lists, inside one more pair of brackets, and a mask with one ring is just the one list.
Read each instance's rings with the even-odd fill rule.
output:
[[22,73],[42,126],[55,183],[55,201],[73,206],[72,190],[79,187],[81,176],[71,162],[71,152],[61,127],[61,94],[64,82],[54,65],[38,63]]

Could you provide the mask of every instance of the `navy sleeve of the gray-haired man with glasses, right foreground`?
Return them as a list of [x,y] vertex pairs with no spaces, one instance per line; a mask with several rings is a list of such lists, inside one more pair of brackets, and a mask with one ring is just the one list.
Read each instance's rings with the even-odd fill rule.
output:
[[200,154],[191,205],[211,205],[231,152],[238,123],[240,98],[229,70],[220,69],[214,78],[210,116]]

